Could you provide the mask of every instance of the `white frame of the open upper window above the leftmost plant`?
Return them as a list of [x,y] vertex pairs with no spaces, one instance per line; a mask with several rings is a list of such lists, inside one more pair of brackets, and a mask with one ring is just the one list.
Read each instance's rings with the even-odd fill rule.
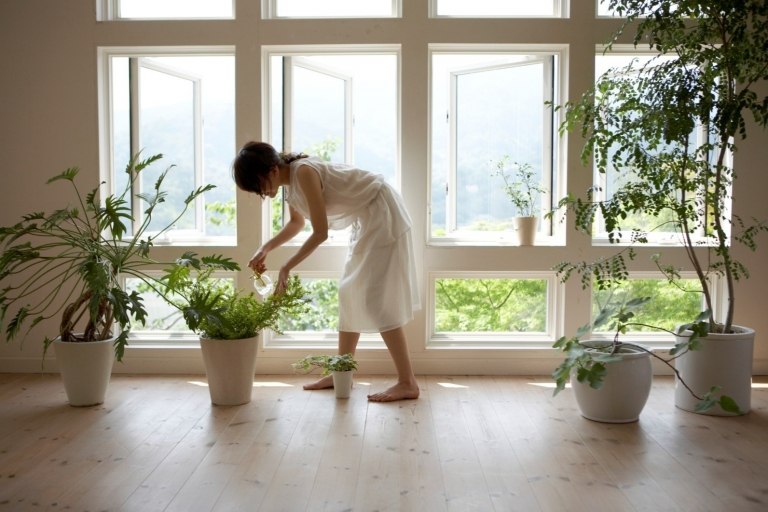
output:
[[[113,136],[113,124],[112,124],[112,68],[111,59],[113,57],[130,58],[130,65],[137,67],[138,60],[141,58],[152,57],[184,57],[184,56],[234,56],[235,48],[233,46],[215,46],[215,47],[197,47],[197,46],[184,46],[184,47],[106,47],[101,46],[97,49],[98,63],[97,74],[99,77],[98,84],[98,102],[99,102],[99,145],[100,145],[100,157],[99,168],[101,181],[105,184],[108,193],[115,193],[115,179],[116,173],[120,169],[113,168],[114,166],[114,136]],[[146,65],[146,63],[145,63]],[[190,77],[186,74],[180,74],[178,71],[171,70],[164,65],[157,65],[151,63],[147,66],[150,69],[160,70],[162,72],[172,71],[173,76],[179,76],[181,78],[193,80],[195,77]],[[184,76],[182,76],[184,75]],[[131,94],[138,95],[138,84],[134,82],[131,84],[131,88],[135,89]],[[195,187],[202,185],[203,170],[202,170],[202,118],[201,118],[201,98],[199,95],[200,88],[196,88],[195,93],[195,107],[194,107],[194,123],[195,123],[195,157],[194,157],[194,178]],[[138,107],[134,104],[133,109]],[[135,113],[132,113],[133,117]],[[133,144],[137,144],[139,137],[137,136],[138,126],[133,125],[131,129],[134,131],[132,135]],[[140,149],[138,147],[131,147],[131,154],[136,154],[136,151]],[[234,152],[234,148],[233,148]],[[138,191],[133,191],[135,195]],[[131,208],[133,209],[133,215],[135,219],[140,219],[143,215],[140,205],[134,204],[131,201]],[[200,196],[196,198],[194,204],[194,215],[196,226],[203,226],[205,222],[205,204],[204,197]],[[224,245],[231,246],[236,244],[235,236],[210,236],[204,235],[201,230],[170,230],[166,232],[163,237],[154,240],[155,245]]]

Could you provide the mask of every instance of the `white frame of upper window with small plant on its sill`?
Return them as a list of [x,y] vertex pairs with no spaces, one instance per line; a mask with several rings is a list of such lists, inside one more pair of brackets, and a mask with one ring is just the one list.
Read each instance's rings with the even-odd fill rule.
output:
[[[498,53],[500,55],[510,55],[510,54],[517,54],[517,55],[525,55],[525,56],[531,56],[533,58],[540,58],[541,61],[544,61],[547,58],[554,58],[554,65],[550,66],[549,69],[552,69],[554,72],[554,76],[552,76],[552,91],[547,92],[545,94],[545,97],[549,98],[553,104],[555,105],[561,105],[565,102],[565,98],[567,98],[567,59],[568,59],[568,47],[565,45],[454,45],[454,44],[430,44],[429,45],[429,76],[430,76],[430,85],[429,85],[429,91],[430,91],[430,97],[429,97],[429,119],[430,119],[430,135],[429,140],[432,141],[432,119],[433,119],[433,108],[434,108],[434,101],[432,98],[432,90],[433,90],[433,79],[434,79],[434,72],[432,69],[432,62],[433,57],[435,55],[439,54],[469,54],[469,53],[479,53],[479,54],[493,54]],[[521,63],[522,64],[522,63]],[[503,67],[510,67],[514,66],[515,64],[505,65]],[[476,68],[477,69],[477,68]],[[457,70],[458,72],[458,70]],[[452,83],[451,83],[451,100],[450,100],[450,108],[453,109],[455,107],[455,95],[454,95],[454,82],[452,77]],[[561,137],[557,133],[557,127],[560,126],[562,122],[562,112],[557,111],[553,112],[551,116],[548,116],[546,112],[549,109],[545,109],[545,130],[550,129],[551,130],[551,137],[545,138],[544,140],[544,148],[543,150],[546,152],[547,155],[551,155],[551,159],[544,159],[544,165],[542,168],[542,177],[545,178],[545,173],[547,170],[550,171],[549,175],[549,183],[551,183],[551,189],[550,186],[547,184],[546,188],[550,189],[549,197],[548,198],[541,198],[542,201],[542,209],[544,211],[547,211],[548,208],[546,207],[547,200],[551,201],[552,204],[556,204],[558,195],[564,194],[565,190],[565,175],[566,175],[566,140],[564,137]],[[456,215],[456,207],[455,207],[455,201],[456,199],[456,163],[455,163],[455,146],[456,146],[456,129],[455,129],[455,115],[452,115],[453,113],[449,113],[450,116],[450,143],[449,143],[449,154],[450,154],[450,168],[448,172],[449,176],[449,183],[448,183],[448,193],[446,197],[446,222],[448,226],[451,226],[451,222],[453,219],[453,227],[455,227],[455,215]],[[549,127],[549,128],[547,128]],[[555,145],[555,147],[552,147],[552,145]],[[547,169],[548,168],[548,169]],[[429,198],[427,201],[428,204],[428,213],[429,213],[429,223],[428,223],[428,232],[427,232],[427,243],[431,246],[466,246],[466,245],[476,245],[476,246],[493,246],[493,245],[513,245],[515,244],[516,235],[514,232],[467,232],[467,231],[449,231],[446,233],[445,236],[434,236],[432,234],[432,195],[431,195],[431,186],[432,186],[432,151],[430,149],[430,161],[429,161],[429,176],[428,176],[428,189],[429,192]],[[452,182],[451,182],[452,180]],[[452,202],[453,201],[453,202]],[[542,231],[543,229],[543,231]],[[536,235],[536,245],[559,245],[564,243],[564,226],[562,223],[555,221],[551,221],[549,227],[540,227],[539,232]]]

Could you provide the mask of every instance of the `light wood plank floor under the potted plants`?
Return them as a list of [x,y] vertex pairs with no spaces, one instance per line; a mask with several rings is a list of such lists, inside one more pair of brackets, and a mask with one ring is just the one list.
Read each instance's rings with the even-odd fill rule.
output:
[[765,511],[768,378],[753,410],[677,410],[657,378],[640,421],[581,418],[544,377],[421,377],[368,403],[259,377],[211,406],[200,376],[116,375],[73,408],[55,375],[0,374],[3,511]]

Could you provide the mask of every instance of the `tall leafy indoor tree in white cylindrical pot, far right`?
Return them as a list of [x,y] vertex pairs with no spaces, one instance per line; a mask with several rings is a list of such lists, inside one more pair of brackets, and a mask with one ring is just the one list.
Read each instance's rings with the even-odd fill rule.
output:
[[[560,206],[574,213],[578,230],[591,234],[597,220],[608,241],[623,246],[596,261],[556,268],[564,279],[577,272],[584,285],[603,287],[629,277],[635,247],[652,243],[655,230],[663,227],[675,236],[690,263],[687,270],[698,279],[708,333],[692,347],[697,350],[676,361],[677,368],[696,394],[721,386],[746,413],[754,331],[734,325],[736,283],[748,276],[735,248],[755,250],[766,221],[732,215],[730,204],[737,170],[750,172],[738,167],[737,154],[748,135],[747,116],[761,128],[768,123],[768,97],[757,87],[768,78],[768,52],[758,50],[768,46],[768,6],[762,1],[608,3],[625,22],[606,51],[634,30],[635,47],[647,44],[658,57],[611,69],[579,100],[562,107],[561,129],[580,131],[583,162],[594,159],[615,189],[604,195],[594,187],[586,197],[566,197]],[[638,216],[648,224],[633,225]],[[671,283],[679,282],[682,269],[662,263],[659,255],[653,259]],[[714,276],[726,289],[722,315],[715,308]],[[695,400],[679,387],[675,403],[695,409]],[[709,414],[729,412],[715,407]]]

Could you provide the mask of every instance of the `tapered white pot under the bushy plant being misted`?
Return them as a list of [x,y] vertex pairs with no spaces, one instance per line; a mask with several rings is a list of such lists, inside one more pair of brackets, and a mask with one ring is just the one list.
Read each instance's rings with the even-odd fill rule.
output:
[[200,338],[213,404],[241,405],[251,401],[258,339],[258,336],[240,340]]

